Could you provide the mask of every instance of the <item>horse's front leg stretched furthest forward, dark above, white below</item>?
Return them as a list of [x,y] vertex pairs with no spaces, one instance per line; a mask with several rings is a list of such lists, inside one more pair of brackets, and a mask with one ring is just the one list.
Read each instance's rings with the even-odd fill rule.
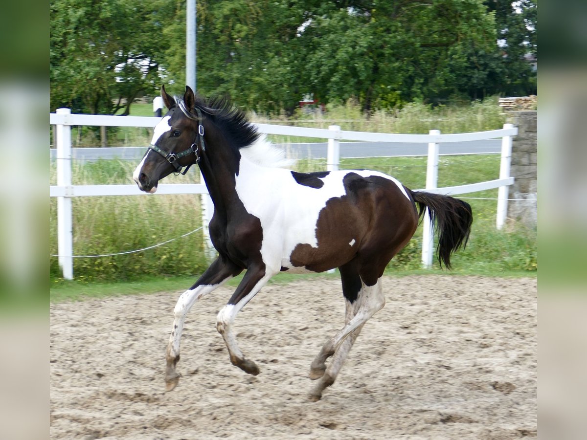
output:
[[185,323],[185,316],[190,312],[191,307],[201,297],[213,292],[222,284],[237,276],[242,271],[228,260],[222,260],[220,256],[214,260],[210,267],[195,282],[190,289],[181,294],[173,310],[173,328],[167,344],[165,389],[173,390],[180,380],[180,374],[176,371],[176,365],[180,360],[181,332]]

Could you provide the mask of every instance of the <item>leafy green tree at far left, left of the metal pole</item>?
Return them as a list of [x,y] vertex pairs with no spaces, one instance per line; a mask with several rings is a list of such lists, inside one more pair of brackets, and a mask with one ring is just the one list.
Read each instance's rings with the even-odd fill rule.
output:
[[154,0],[50,2],[50,107],[128,114],[156,89],[168,4]]

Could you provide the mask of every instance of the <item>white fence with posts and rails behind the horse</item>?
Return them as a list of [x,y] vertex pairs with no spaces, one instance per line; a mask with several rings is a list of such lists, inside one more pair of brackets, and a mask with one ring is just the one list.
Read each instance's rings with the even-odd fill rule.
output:
[[[160,121],[157,117],[142,116],[106,116],[71,114],[69,109],[57,109],[56,113],[49,114],[49,122],[56,126],[57,149],[57,185],[51,186],[50,197],[57,197],[57,224],[58,224],[58,259],[65,279],[73,279],[73,222],[72,197],[90,197],[96,195],[149,195],[140,191],[137,185],[72,185],[71,159],[71,126],[114,126],[114,127],[150,127],[153,128]],[[441,134],[438,130],[430,130],[429,134],[386,134],[365,133],[361,131],[342,131],[339,126],[323,128],[284,127],[268,124],[255,124],[259,132],[266,134],[281,134],[285,136],[315,137],[328,139],[328,157],[326,168],[328,171],[338,170],[340,140],[427,143],[428,164],[426,168],[426,191],[437,194],[457,195],[469,192],[484,191],[485,189],[499,188],[497,201],[496,226],[501,229],[507,215],[508,186],[514,183],[510,176],[510,161],[512,136],[518,134],[518,128],[512,124],[505,124],[502,130],[481,131],[478,133]],[[500,176],[496,180],[478,182],[470,185],[437,188],[438,181],[438,153],[441,143],[475,141],[501,137],[501,165]],[[158,185],[155,195],[160,194],[208,194],[204,184],[161,184]],[[212,218],[213,206],[210,197],[203,196],[203,225],[207,226]],[[207,234],[207,228],[204,228]],[[428,216],[424,217],[422,263],[430,268],[434,255],[433,225],[430,225]]]

